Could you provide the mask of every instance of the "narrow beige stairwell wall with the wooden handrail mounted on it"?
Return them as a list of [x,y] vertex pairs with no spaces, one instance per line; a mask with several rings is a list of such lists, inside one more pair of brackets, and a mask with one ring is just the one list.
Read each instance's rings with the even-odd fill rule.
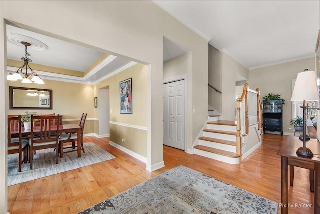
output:
[[[222,91],[222,53],[211,45],[209,45],[209,84]],[[209,105],[221,113],[222,94],[211,87],[208,88],[208,93]]]

